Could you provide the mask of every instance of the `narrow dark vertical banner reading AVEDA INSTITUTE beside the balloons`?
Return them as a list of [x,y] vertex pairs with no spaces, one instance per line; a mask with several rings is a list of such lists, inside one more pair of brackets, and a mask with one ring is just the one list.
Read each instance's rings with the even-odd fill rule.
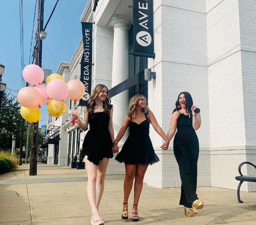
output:
[[84,96],[79,101],[79,106],[86,106],[91,96],[92,89],[92,24],[82,22],[84,51],[81,59],[81,77],[85,87]]

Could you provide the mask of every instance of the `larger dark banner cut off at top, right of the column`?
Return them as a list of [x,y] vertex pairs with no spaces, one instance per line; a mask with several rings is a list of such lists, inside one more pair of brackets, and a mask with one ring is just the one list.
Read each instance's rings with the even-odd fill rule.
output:
[[134,56],[154,58],[153,0],[133,0]]

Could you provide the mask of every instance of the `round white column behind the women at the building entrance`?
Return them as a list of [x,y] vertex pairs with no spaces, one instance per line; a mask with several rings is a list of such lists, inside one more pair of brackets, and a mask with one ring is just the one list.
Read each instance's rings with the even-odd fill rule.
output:
[[[115,19],[112,22],[114,26],[113,43],[113,65],[112,65],[112,87],[129,78],[129,27],[131,23],[124,19]],[[129,90],[112,97],[113,104],[113,128],[115,136],[118,134],[125,115],[129,101]],[[127,139],[127,133],[119,142],[121,147]]]

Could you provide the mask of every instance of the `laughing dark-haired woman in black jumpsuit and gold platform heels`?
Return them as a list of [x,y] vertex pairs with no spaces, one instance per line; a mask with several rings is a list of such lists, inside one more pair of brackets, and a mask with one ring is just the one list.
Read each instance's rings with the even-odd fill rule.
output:
[[201,126],[201,116],[193,111],[193,107],[191,95],[188,92],[181,92],[166,135],[171,140],[177,128],[173,149],[182,183],[180,205],[184,206],[184,214],[188,217],[196,214],[196,209],[204,207],[204,202],[199,201],[196,195],[199,143],[195,130]]

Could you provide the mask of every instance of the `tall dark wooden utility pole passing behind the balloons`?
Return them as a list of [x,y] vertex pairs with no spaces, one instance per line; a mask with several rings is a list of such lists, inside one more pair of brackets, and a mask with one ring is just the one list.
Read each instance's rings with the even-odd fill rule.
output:
[[[36,38],[44,29],[44,0],[38,0],[38,19]],[[42,40],[36,40],[35,64],[42,68]],[[38,151],[38,122],[31,123],[31,149],[29,176],[37,175],[37,151]]]

